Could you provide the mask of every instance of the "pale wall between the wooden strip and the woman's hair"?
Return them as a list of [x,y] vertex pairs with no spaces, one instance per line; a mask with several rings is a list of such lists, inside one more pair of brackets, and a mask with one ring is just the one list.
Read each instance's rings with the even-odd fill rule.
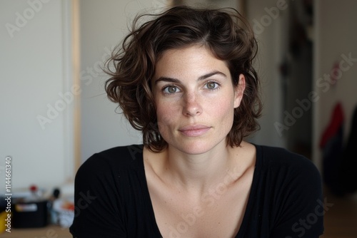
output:
[[80,1],[81,22],[81,161],[95,152],[119,145],[142,143],[141,133],[131,128],[116,104],[106,97],[109,78],[101,67],[112,49],[129,33],[139,11],[153,11],[166,1]]

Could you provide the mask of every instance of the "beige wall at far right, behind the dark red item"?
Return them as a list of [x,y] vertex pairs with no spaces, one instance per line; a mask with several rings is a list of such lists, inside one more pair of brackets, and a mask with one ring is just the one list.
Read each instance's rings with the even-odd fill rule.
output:
[[[346,116],[345,138],[351,128],[353,109],[357,106],[357,1],[316,0],[316,33],[313,84],[320,96],[314,111],[314,159],[321,164],[319,140],[331,120],[336,102],[341,102]],[[351,65],[342,63],[335,85],[321,81],[331,74],[334,63],[346,61],[343,56],[354,58]],[[318,83],[320,82],[320,83]]]

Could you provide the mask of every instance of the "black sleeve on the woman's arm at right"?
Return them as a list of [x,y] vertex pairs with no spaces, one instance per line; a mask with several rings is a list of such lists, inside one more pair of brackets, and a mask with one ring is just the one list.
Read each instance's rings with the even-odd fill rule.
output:
[[281,195],[274,205],[278,207],[274,216],[278,219],[274,221],[270,237],[319,237],[323,234],[325,213],[320,172],[302,156],[289,166]]

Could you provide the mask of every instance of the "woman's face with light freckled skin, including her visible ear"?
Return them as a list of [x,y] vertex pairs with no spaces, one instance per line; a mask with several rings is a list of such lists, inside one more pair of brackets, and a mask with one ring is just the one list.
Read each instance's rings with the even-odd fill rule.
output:
[[224,61],[203,46],[188,46],[165,51],[151,83],[159,131],[169,147],[193,155],[226,146],[243,75],[233,87]]

